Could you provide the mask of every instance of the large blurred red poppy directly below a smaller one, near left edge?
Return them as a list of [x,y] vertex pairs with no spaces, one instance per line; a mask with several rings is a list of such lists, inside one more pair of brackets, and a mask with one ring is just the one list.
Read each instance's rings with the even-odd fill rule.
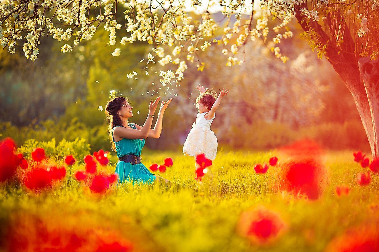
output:
[[36,167],[26,174],[24,183],[27,188],[39,191],[52,186],[52,175],[44,168]]

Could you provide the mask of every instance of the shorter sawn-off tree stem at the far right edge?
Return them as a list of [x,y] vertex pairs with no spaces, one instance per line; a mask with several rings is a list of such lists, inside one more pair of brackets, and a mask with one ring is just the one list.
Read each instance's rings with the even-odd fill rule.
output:
[[370,107],[370,114],[373,125],[372,139],[369,138],[371,153],[378,156],[378,133],[379,133],[379,60],[371,61],[370,57],[364,57],[358,60],[360,75],[364,83],[367,94],[367,100]]

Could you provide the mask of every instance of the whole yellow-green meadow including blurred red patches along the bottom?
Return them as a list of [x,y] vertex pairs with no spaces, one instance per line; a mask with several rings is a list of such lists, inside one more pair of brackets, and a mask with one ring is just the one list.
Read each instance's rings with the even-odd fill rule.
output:
[[[82,161],[67,165],[65,178],[41,192],[28,190],[15,180],[3,182],[0,250],[377,249],[379,178],[372,174],[370,184],[359,185],[357,174],[368,168],[354,162],[350,150],[318,153],[322,178],[317,199],[309,199],[301,192],[286,192],[278,186],[283,179],[280,172],[290,160],[279,150],[221,150],[201,182],[194,179],[192,157],[156,151],[144,151],[141,156],[146,167],[171,157],[173,166],[164,173],[155,173],[169,179],[172,186],[125,183],[111,187],[106,193],[92,193],[73,176],[75,170],[84,169]],[[278,157],[278,164],[270,166],[266,173],[256,173],[254,165],[267,163],[272,156]],[[54,156],[50,161],[64,164],[63,159]],[[112,156],[102,169],[114,172],[115,161]],[[346,186],[349,191],[338,195],[336,186]],[[252,223],[257,218],[263,220],[259,216],[271,216],[274,223],[265,227],[267,230],[261,232],[261,237],[251,232]],[[344,246],[350,247],[343,250]],[[353,250],[359,248],[366,250]]]

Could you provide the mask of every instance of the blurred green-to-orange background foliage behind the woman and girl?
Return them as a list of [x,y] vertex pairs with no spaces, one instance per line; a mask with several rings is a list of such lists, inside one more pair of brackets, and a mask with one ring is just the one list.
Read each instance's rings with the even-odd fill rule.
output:
[[[301,29],[294,25],[293,31]],[[274,148],[308,136],[330,148],[366,147],[351,94],[330,64],[317,59],[304,41],[283,42],[283,51],[291,56],[286,64],[261,42],[249,43],[244,64],[233,67],[225,66],[226,56],[215,45],[195,55],[181,82],[163,87],[158,56],[156,64],[138,63],[149,48],[134,43],[117,45],[123,53],[113,57],[116,46],[102,46],[108,36],[99,29],[92,40],[66,54],[59,52],[59,43],[43,39],[35,62],[20,51],[0,51],[0,136],[11,136],[19,145],[27,139],[84,138],[93,149],[109,150],[105,113],[97,107],[105,108],[109,91],[116,90],[128,97],[135,112],[130,122],[139,125],[144,124],[150,99],[174,97],[161,137],[148,139],[146,145],[179,150],[196,120],[196,85],[202,83],[216,91],[230,90],[212,124],[220,145]],[[197,69],[200,63],[203,71]],[[133,71],[138,74],[128,79]]]

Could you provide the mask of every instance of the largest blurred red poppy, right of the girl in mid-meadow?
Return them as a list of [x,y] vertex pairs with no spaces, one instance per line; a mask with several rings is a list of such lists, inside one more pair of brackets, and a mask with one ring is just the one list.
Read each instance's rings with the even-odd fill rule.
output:
[[318,199],[326,179],[323,165],[313,159],[289,161],[281,165],[279,171],[279,189],[294,195]]

